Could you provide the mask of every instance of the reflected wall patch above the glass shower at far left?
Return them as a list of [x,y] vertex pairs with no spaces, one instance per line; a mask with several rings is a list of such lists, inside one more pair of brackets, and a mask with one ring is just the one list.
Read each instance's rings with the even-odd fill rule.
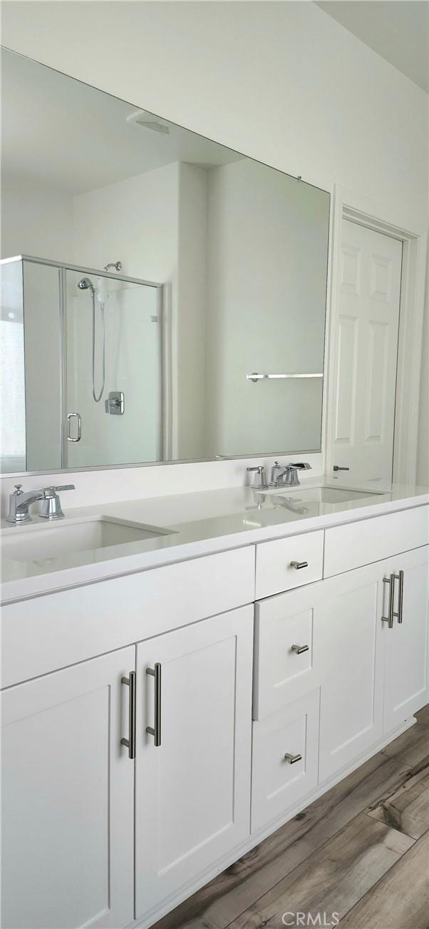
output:
[[32,255],[72,261],[72,209],[70,194],[62,190],[2,174],[1,257]]

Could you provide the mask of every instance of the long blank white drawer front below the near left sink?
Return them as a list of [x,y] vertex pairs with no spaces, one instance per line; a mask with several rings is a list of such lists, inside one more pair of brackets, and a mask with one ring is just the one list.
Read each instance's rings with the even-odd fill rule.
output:
[[254,546],[10,604],[2,687],[254,600]]

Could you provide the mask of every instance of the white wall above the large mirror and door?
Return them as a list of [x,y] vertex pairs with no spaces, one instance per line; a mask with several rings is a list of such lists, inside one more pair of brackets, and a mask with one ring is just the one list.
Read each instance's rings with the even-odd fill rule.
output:
[[3,42],[325,190],[427,218],[427,96],[312,3],[7,0]]

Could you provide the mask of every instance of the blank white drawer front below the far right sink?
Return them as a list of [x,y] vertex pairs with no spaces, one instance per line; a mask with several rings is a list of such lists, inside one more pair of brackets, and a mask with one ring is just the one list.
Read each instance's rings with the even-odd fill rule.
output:
[[427,545],[429,507],[415,506],[385,517],[336,526],[325,532],[324,577],[370,565],[399,552]]

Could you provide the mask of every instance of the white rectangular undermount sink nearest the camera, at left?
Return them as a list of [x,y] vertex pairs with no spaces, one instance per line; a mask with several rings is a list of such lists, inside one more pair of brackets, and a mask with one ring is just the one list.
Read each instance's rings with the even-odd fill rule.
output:
[[111,517],[61,521],[43,526],[14,529],[3,535],[2,554],[13,561],[48,561],[110,545],[142,542],[170,535],[170,530],[141,526]]

